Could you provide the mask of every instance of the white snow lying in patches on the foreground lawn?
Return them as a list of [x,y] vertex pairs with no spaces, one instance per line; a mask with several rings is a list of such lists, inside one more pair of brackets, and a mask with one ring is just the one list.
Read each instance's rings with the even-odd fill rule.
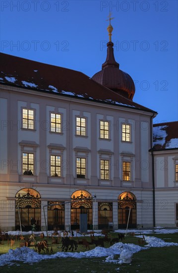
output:
[[[151,231],[151,232],[150,232]],[[117,232],[125,233],[123,230],[118,230]],[[137,233],[153,233],[153,230],[127,230],[128,232],[134,232]],[[157,233],[175,233],[178,232],[178,229],[164,229],[162,227],[157,227],[154,232]],[[41,232],[35,232],[35,235],[41,234]],[[46,232],[43,231],[44,235],[46,236]],[[52,235],[54,231],[48,231],[48,235]],[[20,231],[8,231],[8,234],[13,235],[19,235],[21,234]],[[31,231],[29,232],[23,232],[23,235],[31,234]],[[60,233],[61,235],[63,232]],[[94,233],[95,236],[101,236],[101,230],[97,230]],[[83,234],[76,233],[74,231],[74,237],[84,236]],[[90,233],[85,234],[85,236],[90,236]],[[136,237],[143,238],[142,235],[136,235]],[[169,247],[169,246],[178,246],[178,243],[168,243],[160,238],[156,238],[154,236],[146,236],[144,235],[145,241],[147,243],[146,246],[140,247],[139,245],[135,244],[124,244],[122,242],[116,243],[113,246],[109,248],[103,248],[103,247],[96,247],[92,250],[85,251],[85,252],[57,252],[53,255],[42,255],[36,253],[33,249],[30,249],[28,247],[20,247],[16,248],[15,250],[9,249],[8,253],[0,255],[0,266],[4,265],[13,265],[17,264],[17,262],[24,262],[24,263],[36,263],[40,262],[42,260],[46,259],[55,259],[55,258],[93,258],[93,257],[106,257],[105,262],[106,263],[115,263],[115,264],[122,264],[122,263],[131,263],[132,255],[134,253],[137,253],[141,250],[149,249],[151,247]],[[115,255],[120,255],[119,259],[114,259]],[[119,268],[117,269],[119,271]]]

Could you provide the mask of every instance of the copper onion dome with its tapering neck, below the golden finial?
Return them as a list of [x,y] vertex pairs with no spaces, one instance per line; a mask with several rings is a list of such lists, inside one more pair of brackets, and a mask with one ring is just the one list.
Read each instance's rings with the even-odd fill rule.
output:
[[132,100],[135,93],[134,82],[129,74],[119,69],[119,64],[115,61],[113,46],[113,42],[107,43],[106,62],[102,65],[102,70],[94,74],[92,79]]

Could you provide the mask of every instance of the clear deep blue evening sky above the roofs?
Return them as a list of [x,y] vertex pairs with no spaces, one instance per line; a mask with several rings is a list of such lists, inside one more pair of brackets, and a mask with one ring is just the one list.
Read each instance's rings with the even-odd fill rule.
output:
[[158,112],[154,123],[178,120],[176,0],[1,0],[0,51],[92,77],[106,60],[110,11],[133,101]]

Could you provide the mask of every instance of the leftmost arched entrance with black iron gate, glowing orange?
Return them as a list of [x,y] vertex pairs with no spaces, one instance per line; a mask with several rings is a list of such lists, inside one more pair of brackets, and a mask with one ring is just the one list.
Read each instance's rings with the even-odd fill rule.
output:
[[15,201],[15,229],[20,229],[20,221],[23,231],[32,230],[35,224],[36,230],[41,229],[41,196],[34,189],[22,189],[16,195]]

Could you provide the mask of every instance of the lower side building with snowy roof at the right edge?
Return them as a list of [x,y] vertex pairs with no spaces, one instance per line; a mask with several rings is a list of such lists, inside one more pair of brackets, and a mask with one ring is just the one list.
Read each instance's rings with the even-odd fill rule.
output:
[[178,122],[153,125],[156,226],[178,226]]

